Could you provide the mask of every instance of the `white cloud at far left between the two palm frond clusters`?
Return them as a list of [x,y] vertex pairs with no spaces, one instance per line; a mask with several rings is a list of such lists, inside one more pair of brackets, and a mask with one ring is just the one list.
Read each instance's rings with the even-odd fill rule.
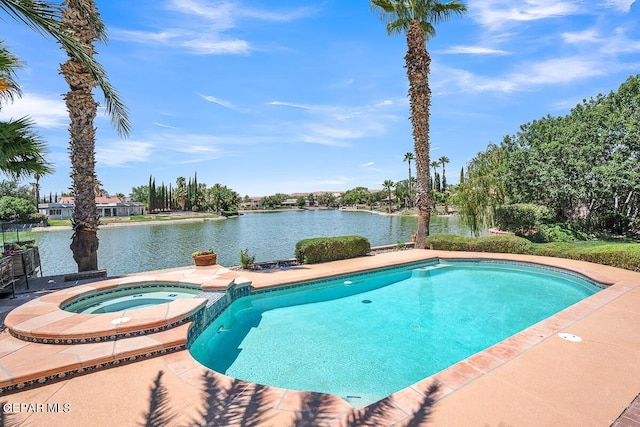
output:
[[23,93],[13,103],[0,110],[0,120],[17,120],[29,116],[41,128],[58,128],[69,125],[67,106],[62,97],[47,98],[34,93]]

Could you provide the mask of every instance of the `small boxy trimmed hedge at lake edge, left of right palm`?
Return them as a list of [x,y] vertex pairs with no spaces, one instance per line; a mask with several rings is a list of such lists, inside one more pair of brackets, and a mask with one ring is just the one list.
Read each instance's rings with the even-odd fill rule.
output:
[[336,261],[364,256],[371,244],[362,236],[315,237],[296,243],[296,259],[300,263]]

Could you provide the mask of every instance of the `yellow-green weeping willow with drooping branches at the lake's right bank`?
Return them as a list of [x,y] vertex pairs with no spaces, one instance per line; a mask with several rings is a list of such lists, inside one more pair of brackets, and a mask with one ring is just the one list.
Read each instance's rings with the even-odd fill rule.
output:
[[458,187],[458,207],[463,223],[475,236],[493,225],[496,210],[505,203],[505,167],[506,153],[495,144],[489,144],[467,165]]

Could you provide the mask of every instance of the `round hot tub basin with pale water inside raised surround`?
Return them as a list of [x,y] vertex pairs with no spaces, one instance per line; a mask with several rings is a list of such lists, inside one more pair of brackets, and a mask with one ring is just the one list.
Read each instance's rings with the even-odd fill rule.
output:
[[200,293],[202,293],[200,288],[177,283],[132,283],[123,288],[107,289],[97,294],[80,295],[60,308],[81,314],[113,313],[164,304],[179,298],[194,298]]

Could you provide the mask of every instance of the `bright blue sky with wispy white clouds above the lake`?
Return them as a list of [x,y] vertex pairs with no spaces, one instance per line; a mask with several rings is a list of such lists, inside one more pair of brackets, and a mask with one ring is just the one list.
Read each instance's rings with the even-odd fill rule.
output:
[[[111,194],[198,174],[242,196],[381,188],[413,151],[404,35],[387,36],[367,1],[98,0],[109,42],[97,59],[126,103],[129,138],[104,111],[96,172]],[[274,6],[275,4],[275,6]],[[521,124],[565,115],[640,69],[635,0],[469,0],[427,48],[431,156],[447,180]],[[0,38],[25,66],[23,97],[68,191],[68,117],[58,45],[3,16]],[[96,100],[103,102],[96,90]]]

